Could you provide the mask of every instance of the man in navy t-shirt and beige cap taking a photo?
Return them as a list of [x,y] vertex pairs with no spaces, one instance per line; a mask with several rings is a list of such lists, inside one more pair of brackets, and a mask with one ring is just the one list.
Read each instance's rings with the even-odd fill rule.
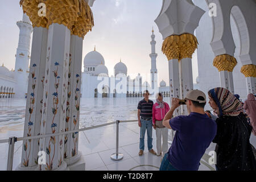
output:
[[205,150],[217,132],[213,119],[205,114],[206,96],[200,90],[191,90],[185,97],[189,115],[172,118],[179,107],[179,99],[172,99],[171,109],[163,119],[163,125],[176,131],[174,141],[164,156],[160,171],[197,171]]

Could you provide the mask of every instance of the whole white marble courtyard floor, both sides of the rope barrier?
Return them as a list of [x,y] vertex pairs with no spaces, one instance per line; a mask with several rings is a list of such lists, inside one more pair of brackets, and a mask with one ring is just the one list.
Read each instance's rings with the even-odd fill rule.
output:
[[[82,105],[84,110],[81,111],[84,114],[83,119],[81,119],[81,127],[89,127],[100,125],[102,123],[108,122],[108,120],[115,119],[135,119],[136,115],[136,103],[139,100],[123,100],[123,106],[128,110],[125,117],[121,118],[123,113],[119,113],[119,109],[115,105],[117,101],[108,101],[109,105],[105,106],[108,109],[102,111],[102,113],[90,114],[88,105]],[[23,137],[24,128],[24,101],[25,100],[1,100],[0,102],[0,139],[7,139],[9,137]],[[84,103],[87,100],[84,101]],[[94,103],[94,107],[98,110],[104,107],[105,100],[100,101],[90,101]],[[122,102],[121,102],[122,103]],[[109,114],[109,111],[111,111]],[[85,114],[87,113],[87,114]],[[98,114],[101,115],[100,118]],[[106,117],[107,115],[107,117]],[[85,121],[85,118],[90,118],[91,121]],[[131,123],[120,123],[119,125],[119,152],[123,154],[123,159],[119,161],[114,161],[110,159],[110,155],[115,152],[115,134],[116,126],[110,125],[105,127],[100,127],[97,129],[92,129],[88,131],[83,131],[79,134],[79,151],[82,155],[82,161],[85,161],[86,170],[159,170],[160,167],[160,156],[155,156],[147,151],[147,135],[145,136],[145,151],[143,156],[138,156],[139,152],[139,127],[137,122]],[[171,132],[170,132],[171,133]],[[172,137],[171,134],[169,136]],[[256,148],[256,137],[251,135],[251,144]],[[169,144],[170,147],[170,144]],[[209,151],[214,150],[214,144],[210,146],[205,151],[205,155],[201,159],[201,165],[199,170],[209,171],[214,170],[213,165],[208,164]],[[153,148],[156,150],[156,137],[155,130],[153,130]],[[22,151],[22,141],[15,143],[14,148],[14,162],[13,169],[15,169],[21,162],[21,151]],[[0,143],[0,170],[6,170],[7,166],[7,156],[8,156],[8,144]]]

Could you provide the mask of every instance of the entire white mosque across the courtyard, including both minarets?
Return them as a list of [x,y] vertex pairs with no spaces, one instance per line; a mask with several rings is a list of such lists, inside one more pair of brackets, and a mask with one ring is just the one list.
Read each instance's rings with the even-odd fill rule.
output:
[[[2,64],[0,67],[0,98],[26,98],[32,24],[26,14],[23,19],[16,23],[20,29],[19,44],[16,50],[15,70],[9,70]],[[81,97],[84,98],[124,98],[143,97],[143,91],[149,90],[151,94],[160,92],[164,97],[170,96],[170,87],[162,80],[158,87],[158,70],[156,69],[155,35],[151,35],[151,69],[150,81],[141,76],[135,78],[127,75],[127,67],[119,61],[114,67],[114,76],[109,76],[105,66],[104,57],[100,52],[89,52],[84,58],[84,71],[82,72]],[[149,72],[148,72],[149,73]]]

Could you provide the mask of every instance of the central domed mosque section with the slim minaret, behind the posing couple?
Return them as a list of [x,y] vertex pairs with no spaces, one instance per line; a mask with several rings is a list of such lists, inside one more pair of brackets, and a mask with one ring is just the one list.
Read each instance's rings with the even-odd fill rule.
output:
[[160,92],[164,97],[170,96],[170,87],[162,80],[158,87],[158,70],[156,69],[155,35],[151,35],[151,70],[150,83],[140,73],[135,78],[127,75],[127,67],[122,60],[114,66],[114,76],[109,76],[104,57],[100,52],[89,52],[84,58],[84,72],[82,72],[81,94],[84,98],[125,98],[142,97],[143,91],[154,94]]

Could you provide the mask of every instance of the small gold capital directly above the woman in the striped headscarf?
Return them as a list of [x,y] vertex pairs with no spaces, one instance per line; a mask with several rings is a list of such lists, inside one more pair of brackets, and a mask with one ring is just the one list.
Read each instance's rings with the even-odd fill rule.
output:
[[218,55],[213,60],[213,66],[221,71],[229,71],[233,72],[234,67],[237,65],[237,60],[233,56],[230,55]]

